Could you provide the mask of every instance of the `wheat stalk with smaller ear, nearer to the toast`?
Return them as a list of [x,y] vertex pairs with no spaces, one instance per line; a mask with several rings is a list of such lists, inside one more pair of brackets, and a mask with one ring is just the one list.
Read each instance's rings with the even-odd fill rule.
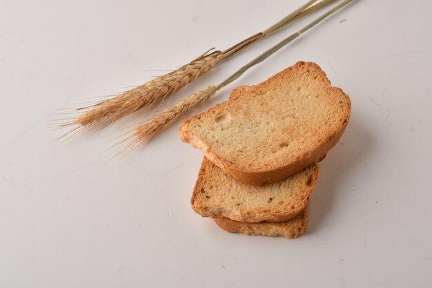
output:
[[266,50],[264,53],[253,59],[251,62],[237,70],[233,75],[222,81],[222,83],[220,83],[219,85],[210,86],[204,90],[200,90],[199,92],[190,95],[176,105],[164,109],[164,111],[155,115],[154,117],[151,117],[146,122],[143,122],[142,124],[137,126],[137,128],[135,128],[135,131],[132,135],[126,138],[126,142],[128,142],[128,145],[126,146],[128,148],[135,148],[139,144],[145,143],[147,140],[150,140],[157,132],[161,131],[162,128],[166,128],[166,126],[175,122],[178,117],[184,115],[190,110],[190,108],[193,108],[199,103],[206,101],[206,99],[215,95],[215,93],[217,93],[217,91],[220,90],[222,87],[230,84],[232,81],[242,76],[246,72],[246,70],[248,70],[252,66],[261,63],[262,61],[273,55],[273,53],[275,53],[277,50],[286,46],[286,44],[290,43],[291,41],[302,35],[304,32],[315,26],[317,23],[326,19],[326,17],[339,10],[340,8],[346,6],[351,1],[353,0],[344,0],[339,5],[335,6],[331,10],[328,10],[328,12],[324,13],[311,23],[308,23],[308,25],[304,26],[304,28],[298,30],[293,35],[280,41],[272,48]]

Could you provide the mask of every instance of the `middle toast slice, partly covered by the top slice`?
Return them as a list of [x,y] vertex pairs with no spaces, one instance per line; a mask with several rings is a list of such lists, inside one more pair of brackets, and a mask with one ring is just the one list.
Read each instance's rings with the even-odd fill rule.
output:
[[238,182],[204,157],[193,190],[193,210],[239,222],[283,222],[304,210],[317,183],[318,166],[265,186]]

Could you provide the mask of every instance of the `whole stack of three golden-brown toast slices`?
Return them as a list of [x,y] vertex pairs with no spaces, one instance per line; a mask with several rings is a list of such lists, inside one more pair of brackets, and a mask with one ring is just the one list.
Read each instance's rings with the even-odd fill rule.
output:
[[181,140],[204,152],[196,213],[230,232],[297,238],[307,228],[318,162],[340,139],[351,102],[317,64],[297,62],[192,117]]

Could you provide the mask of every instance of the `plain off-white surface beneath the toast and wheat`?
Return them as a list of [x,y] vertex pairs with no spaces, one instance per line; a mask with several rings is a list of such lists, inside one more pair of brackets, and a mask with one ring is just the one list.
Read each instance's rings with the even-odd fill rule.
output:
[[[297,240],[226,233],[195,214],[202,153],[179,141],[179,122],[108,164],[105,149],[132,119],[50,143],[64,132],[46,126],[55,109],[228,48],[302,3],[2,0],[0,287],[431,287],[430,1],[357,0],[187,116],[298,60],[317,62],[351,96],[351,122],[320,166]],[[170,103],[218,84],[311,19]]]

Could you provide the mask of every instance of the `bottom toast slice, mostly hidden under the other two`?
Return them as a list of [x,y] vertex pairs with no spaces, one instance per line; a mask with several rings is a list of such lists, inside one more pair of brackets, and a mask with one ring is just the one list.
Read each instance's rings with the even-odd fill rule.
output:
[[258,222],[244,223],[228,218],[215,218],[219,227],[228,232],[244,233],[257,236],[283,236],[285,238],[298,238],[308,227],[309,205],[295,218],[285,222]]

